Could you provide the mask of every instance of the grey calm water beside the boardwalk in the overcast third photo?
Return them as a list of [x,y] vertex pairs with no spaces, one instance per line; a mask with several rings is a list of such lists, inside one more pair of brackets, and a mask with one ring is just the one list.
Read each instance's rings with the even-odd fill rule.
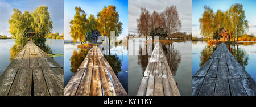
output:
[[[135,46],[139,46],[139,43],[135,42]],[[162,47],[180,94],[191,95],[191,41],[174,40],[172,45]],[[137,94],[148,59],[150,55],[129,55],[129,95]]]

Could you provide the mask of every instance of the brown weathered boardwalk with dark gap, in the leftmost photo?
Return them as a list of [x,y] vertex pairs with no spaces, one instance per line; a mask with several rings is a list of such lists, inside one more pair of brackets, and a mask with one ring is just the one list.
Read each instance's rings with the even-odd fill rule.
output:
[[64,71],[48,54],[28,41],[0,75],[2,96],[64,94]]

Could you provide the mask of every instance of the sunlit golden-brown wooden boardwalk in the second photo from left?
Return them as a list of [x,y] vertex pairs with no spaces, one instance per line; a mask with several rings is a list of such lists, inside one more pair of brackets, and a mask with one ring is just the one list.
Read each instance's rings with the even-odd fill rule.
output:
[[65,96],[126,96],[101,50],[93,46],[64,89]]

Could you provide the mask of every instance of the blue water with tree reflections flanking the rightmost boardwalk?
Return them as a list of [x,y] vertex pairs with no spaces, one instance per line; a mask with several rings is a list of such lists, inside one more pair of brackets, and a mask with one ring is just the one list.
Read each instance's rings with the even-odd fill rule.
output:
[[[227,45],[231,53],[245,70],[256,80],[256,43],[242,42],[238,45]],[[203,65],[217,48],[204,41],[192,43],[192,75]]]

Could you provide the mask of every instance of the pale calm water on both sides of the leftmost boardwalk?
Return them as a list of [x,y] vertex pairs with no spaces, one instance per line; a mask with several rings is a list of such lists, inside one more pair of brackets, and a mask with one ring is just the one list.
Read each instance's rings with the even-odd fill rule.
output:
[[[18,53],[18,51],[11,49],[15,45],[15,40],[9,39],[9,40],[0,40],[0,48],[1,48],[1,53],[0,53],[0,74],[5,70],[5,68],[10,64],[12,61],[12,56],[15,57],[15,53]],[[51,53],[51,54],[60,54],[55,57],[55,61],[59,63],[60,66],[64,66],[64,49],[63,49],[63,40],[51,40],[47,39],[45,44],[40,47],[43,48],[42,50],[46,49],[46,53]],[[13,53],[11,53],[11,51]]]

